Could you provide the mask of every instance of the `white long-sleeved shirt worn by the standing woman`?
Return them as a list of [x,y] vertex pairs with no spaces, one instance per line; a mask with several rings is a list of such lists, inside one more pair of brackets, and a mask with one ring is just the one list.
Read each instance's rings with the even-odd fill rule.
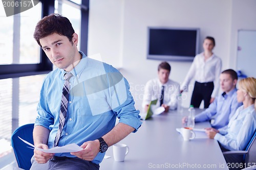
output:
[[212,54],[206,61],[204,60],[204,53],[196,55],[181,86],[181,90],[187,91],[188,84],[193,78],[199,83],[214,82],[214,91],[211,93],[211,98],[215,98],[220,87],[221,67],[221,59],[215,54]]

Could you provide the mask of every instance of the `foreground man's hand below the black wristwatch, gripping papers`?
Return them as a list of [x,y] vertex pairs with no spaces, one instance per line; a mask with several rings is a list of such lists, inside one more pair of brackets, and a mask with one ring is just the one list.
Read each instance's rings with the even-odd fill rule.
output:
[[70,154],[75,155],[83,160],[92,161],[99,153],[99,146],[100,144],[98,139],[93,141],[87,141],[81,145],[81,148],[83,148],[82,151],[71,152]]

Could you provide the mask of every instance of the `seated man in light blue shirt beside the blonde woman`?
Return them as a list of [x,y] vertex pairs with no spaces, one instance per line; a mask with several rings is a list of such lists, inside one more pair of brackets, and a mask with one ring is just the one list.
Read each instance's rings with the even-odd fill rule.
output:
[[[219,95],[205,111],[195,117],[195,122],[205,122],[211,120],[211,126],[215,129],[226,126],[237,108],[242,105],[237,101],[238,81],[237,72],[232,69],[222,71],[220,75],[220,85],[223,93]],[[187,117],[183,117],[182,122],[186,122]]]

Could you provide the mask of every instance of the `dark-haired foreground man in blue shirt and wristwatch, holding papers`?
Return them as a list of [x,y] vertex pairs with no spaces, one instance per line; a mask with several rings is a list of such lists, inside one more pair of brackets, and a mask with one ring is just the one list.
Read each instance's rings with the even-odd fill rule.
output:
[[42,84],[34,145],[41,149],[56,146],[64,76],[71,74],[67,115],[57,145],[76,143],[82,150],[58,154],[34,150],[31,169],[99,169],[106,149],[142,124],[129,83],[111,65],[77,50],[78,35],[66,17],[52,14],[42,18],[34,38],[57,67]]

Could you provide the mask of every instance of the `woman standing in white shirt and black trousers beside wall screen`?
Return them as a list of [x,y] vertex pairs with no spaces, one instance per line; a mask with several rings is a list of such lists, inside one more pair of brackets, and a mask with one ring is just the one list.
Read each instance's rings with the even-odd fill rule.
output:
[[203,42],[204,52],[198,54],[181,86],[181,93],[188,90],[188,84],[195,78],[195,86],[191,97],[191,105],[199,108],[204,100],[204,108],[208,108],[214,102],[219,92],[219,76],[221,74],[221,59],[212,50],[215,47],[215,39],[206,37]]

